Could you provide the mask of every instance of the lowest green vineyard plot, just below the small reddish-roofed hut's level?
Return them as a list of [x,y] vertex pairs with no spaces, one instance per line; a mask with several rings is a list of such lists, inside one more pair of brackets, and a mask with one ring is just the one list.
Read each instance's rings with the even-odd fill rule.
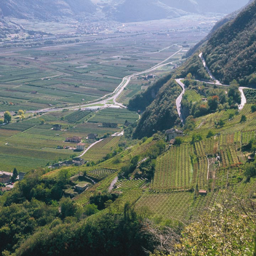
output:
[[135,209],[148,209],[151,217],[163,217],[186,223],[193,202],[193,193],[178,192],[167,194],[145,193],[135,204]]

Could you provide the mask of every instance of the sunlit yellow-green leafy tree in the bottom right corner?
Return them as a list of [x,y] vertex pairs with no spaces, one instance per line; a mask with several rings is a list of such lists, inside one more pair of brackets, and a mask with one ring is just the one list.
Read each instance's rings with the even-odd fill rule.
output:
[[178,255],[253,255],[250,254],[255,234],[255,223],[250,218],[252,209],[236,199],[235,194],[230,198],[234,202],[225,198],[226,202],[217,203],[198,222],[185,227]]

